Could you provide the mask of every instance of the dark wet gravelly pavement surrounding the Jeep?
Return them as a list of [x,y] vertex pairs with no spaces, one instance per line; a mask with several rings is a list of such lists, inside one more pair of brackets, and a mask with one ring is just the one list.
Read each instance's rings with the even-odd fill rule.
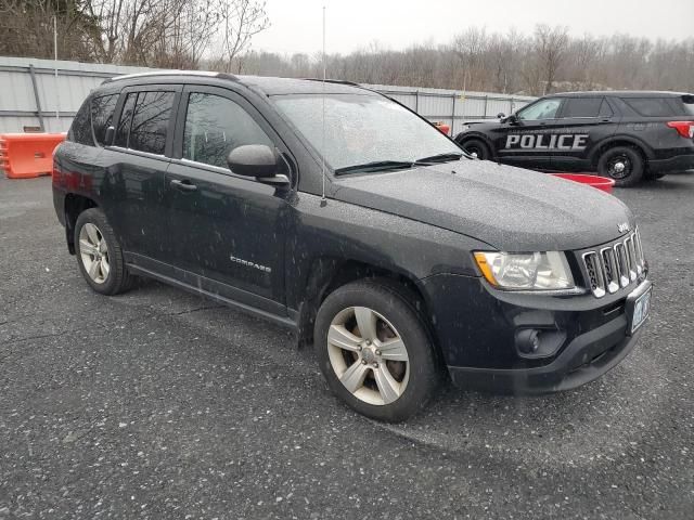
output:
[[655,283],[621,365],[386,426],[281,328],[154,282],[92,292],[50,179],[0,179],[0,519],[694,518],[694,176],[617,196]]

